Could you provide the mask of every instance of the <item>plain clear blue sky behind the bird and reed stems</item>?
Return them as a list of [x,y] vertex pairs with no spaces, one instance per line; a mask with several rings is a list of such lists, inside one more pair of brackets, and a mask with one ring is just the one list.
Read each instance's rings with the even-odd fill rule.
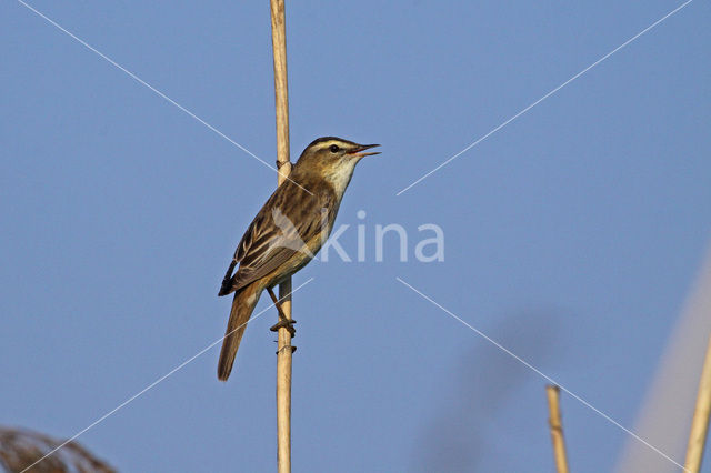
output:
[[[267,1],[31,4],[274,160]],[[708,2],[395,194],[680,4],[287,6],[292,159],[382,143],[343,246],[445,233],[444,262],[391,242],[294,278],[294,471],[552,470],[545,381],[395,278],[633,425],[711,230]],[[0,422],[67,437],[222,335],[276,173],[21,3],[0,18]],[[216,346],[79,440],[121,471],[273,471],[271,312],[227,384]],[[562,402],[572,467],[610,471],[627,434]]]

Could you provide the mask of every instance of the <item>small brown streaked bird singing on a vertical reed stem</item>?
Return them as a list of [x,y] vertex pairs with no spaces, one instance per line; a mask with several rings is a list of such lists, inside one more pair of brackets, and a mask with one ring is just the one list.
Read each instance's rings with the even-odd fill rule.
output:
[[[356,165],[379,144],[336,137],[312,141],[288,179],[267,200],[248,227],[222,280],[218,295],[234,293],[218,361],[218,379],[227,381],[254,306],[267,290],[279,323],[292,334],[273,288],[306,266],[328,239]],[[236,266],[239,264],[237,271]]]

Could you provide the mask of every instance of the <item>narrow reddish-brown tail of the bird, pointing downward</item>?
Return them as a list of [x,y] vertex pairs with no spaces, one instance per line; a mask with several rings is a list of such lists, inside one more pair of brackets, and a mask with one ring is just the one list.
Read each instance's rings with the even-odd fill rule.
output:
[[244,329],[247,329],[247,322],[252,315],[263,289],[259,281],[256,281],[234,293],[230,320],[227,323],[222,350],[220,351],[220,361],[218,362],[218,379],[220,381],[227,381],[230,376],[237,349],[240,346]]

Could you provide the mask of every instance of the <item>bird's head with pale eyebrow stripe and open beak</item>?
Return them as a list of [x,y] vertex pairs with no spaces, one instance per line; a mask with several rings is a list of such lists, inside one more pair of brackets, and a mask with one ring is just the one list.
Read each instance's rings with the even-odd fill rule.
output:
[[374,147],[379,144],[358,144],[334,137],[319,138],[303,150],[296,169],[310,177],[326,179],[342,193],[353,175],[356,164],[364,157],[380,154],[364,152]]

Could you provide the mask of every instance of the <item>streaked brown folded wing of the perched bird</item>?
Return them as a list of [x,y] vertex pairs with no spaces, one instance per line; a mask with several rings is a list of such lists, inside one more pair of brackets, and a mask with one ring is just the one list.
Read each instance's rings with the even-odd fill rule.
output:
[[[298,252],[313,258],[306,242],[321,232],[321,208],[330,205],[294,185],[280,185],[242,236],[220,293],[227,294],[263,278]],[[238,262],[240,266],[231,276]]]

